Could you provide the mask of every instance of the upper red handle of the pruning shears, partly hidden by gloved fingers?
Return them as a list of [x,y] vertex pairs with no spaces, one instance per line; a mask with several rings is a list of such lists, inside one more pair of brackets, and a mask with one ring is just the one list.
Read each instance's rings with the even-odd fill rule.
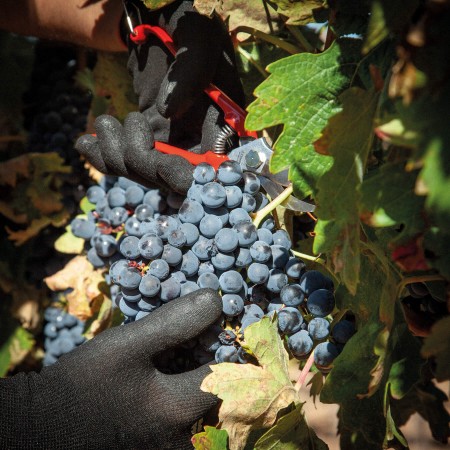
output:
[[[134,28],[134,34],[130,34],[130,39],[136,44],[143,44],[147,40],[149,34],[154,34],[166,46],[166,48],[176,55],[177,49],[173,43],[171,36],[162,28],[143,24]],[[225,92],[221,91],[214,84],[210,84],[205,89],[209,98],[214,101],[224,112],[225,122],[236,130],[239,137],[257,138],[256,131],[248,131],[245,129],[244,122],[247,113],[237,103],[235,103]]]

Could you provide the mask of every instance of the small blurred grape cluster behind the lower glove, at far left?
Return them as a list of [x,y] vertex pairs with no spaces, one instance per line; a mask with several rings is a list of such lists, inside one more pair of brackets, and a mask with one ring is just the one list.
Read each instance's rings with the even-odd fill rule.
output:
[[44,312],[44,366],[55,363],[61,355],[69,353],[86,339],[84,322],[61,308],[50,306]]

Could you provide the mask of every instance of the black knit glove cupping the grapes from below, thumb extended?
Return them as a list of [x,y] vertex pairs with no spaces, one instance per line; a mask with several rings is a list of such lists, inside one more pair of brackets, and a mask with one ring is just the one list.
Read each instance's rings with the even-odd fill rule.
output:
[[216,404],[200,390],[208,366],[164,375],[152,359],[211,326],[217,292],[203,289],[104,331],[39,374],[0,381],[2,449],[185,449]]

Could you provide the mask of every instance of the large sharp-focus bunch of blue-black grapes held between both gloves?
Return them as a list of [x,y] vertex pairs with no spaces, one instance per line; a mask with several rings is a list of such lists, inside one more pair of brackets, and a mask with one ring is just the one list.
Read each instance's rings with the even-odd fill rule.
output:
[[251,214],[269,200],[255,174],[226,161],[217,171],[202,163],[193,177],[187,197],[172,194],[167,205],[159,191],[124,178],[109,189],[92,186],[87,198],[95,211],[72,222],[73,234],[89,242],[91,263],[109,265],[125,322],[211,288],[222,294],[223,318],[189,344],[198,363],[248,362],[240,346],[246,327],[276,312],[293,356],[304,359],[314,349],[317,367],[328,370],[355,332],[349,320],[330,332],[332,280],[306,270],[272,216],[256,229]]

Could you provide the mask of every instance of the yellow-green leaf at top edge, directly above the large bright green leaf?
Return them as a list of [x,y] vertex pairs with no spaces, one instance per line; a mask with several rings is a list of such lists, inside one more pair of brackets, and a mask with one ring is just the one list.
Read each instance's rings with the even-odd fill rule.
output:
[[278,14],[288,17],[288,25],[306,25],[314,22],[316,15],[325,9],[323,0],[269,0]]

